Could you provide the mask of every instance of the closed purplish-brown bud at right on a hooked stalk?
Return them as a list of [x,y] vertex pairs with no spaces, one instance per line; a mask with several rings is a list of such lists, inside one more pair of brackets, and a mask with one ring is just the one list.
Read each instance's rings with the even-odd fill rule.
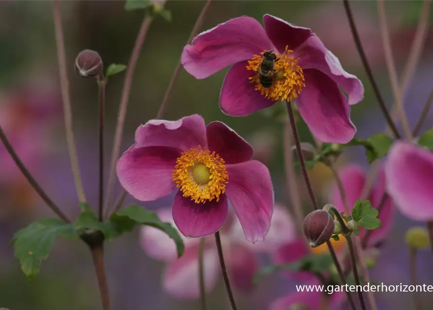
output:
[[320,246],[334,233],[334,219],[323,210],[315,210],[304,219],[304,233],[312,248]]

